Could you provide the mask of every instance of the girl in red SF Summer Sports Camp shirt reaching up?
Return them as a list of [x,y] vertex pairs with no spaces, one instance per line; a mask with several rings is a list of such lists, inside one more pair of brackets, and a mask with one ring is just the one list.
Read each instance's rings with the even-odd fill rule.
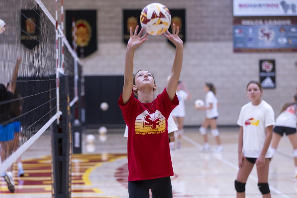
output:
[[[179,27],[172,34],[163,34],[176,46],[170,80],[164,91],[154,99],[157,88],[155,79],[147,70],[140,70],[133,76],[133,57],[137,47],[148,39],[148,33],[141,37],[143,29],[134,35],[130,28],[127,45],[124,88],[118,105],[128,126],[128,191],[130,198],[153,197],[172,198],[170,176],[173,174],[170,157],[167,119],[179,104],[175,95],[183,63],[183,41],[178,37]],[[133,97],[133,92],[138,99]]]

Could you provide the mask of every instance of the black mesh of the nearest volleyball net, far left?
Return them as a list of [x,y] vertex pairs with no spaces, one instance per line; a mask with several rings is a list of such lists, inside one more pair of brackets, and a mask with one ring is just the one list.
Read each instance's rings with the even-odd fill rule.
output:
[[34,0],[1,0],[0,19],[6,23],[0,34],[3,162],[56,113],[56,41],[54,24]]

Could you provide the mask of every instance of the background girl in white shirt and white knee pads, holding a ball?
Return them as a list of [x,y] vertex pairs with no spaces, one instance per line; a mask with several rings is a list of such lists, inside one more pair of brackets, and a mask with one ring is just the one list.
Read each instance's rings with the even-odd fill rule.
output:
[[204,92],[206,92],[205,97],[205,106],[196,107],[197,110],[205,110],[206,118],[202,123],[202,126],[199,128],[200,134],[203,136],[204,144],[201,147],[201,151],[210,150],[210,146],[207,139],[207,128],[210,125],[211,133],[216,139],[217,148],[214,149],[215,152],[222,152],[223,147],[221,145],[221,139],[219,130],[217,129],[217,118],[219,113],[217,111],[218,101],[216,97],[216,88],[212,83],[205,83],[203,87]]

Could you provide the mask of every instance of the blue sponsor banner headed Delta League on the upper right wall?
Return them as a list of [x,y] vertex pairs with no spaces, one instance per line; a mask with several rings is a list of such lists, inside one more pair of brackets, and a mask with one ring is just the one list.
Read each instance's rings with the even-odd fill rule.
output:
[[297,20],[234,19],[234,52],[296,52]]

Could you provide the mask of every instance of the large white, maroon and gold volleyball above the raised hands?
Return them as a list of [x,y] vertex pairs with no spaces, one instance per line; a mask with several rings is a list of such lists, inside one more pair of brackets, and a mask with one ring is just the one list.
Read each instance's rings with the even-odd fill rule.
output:
[[161,35],[171,24],[171,14],[161,3],[151,3],[140,14],[140,24],[151,35]]

